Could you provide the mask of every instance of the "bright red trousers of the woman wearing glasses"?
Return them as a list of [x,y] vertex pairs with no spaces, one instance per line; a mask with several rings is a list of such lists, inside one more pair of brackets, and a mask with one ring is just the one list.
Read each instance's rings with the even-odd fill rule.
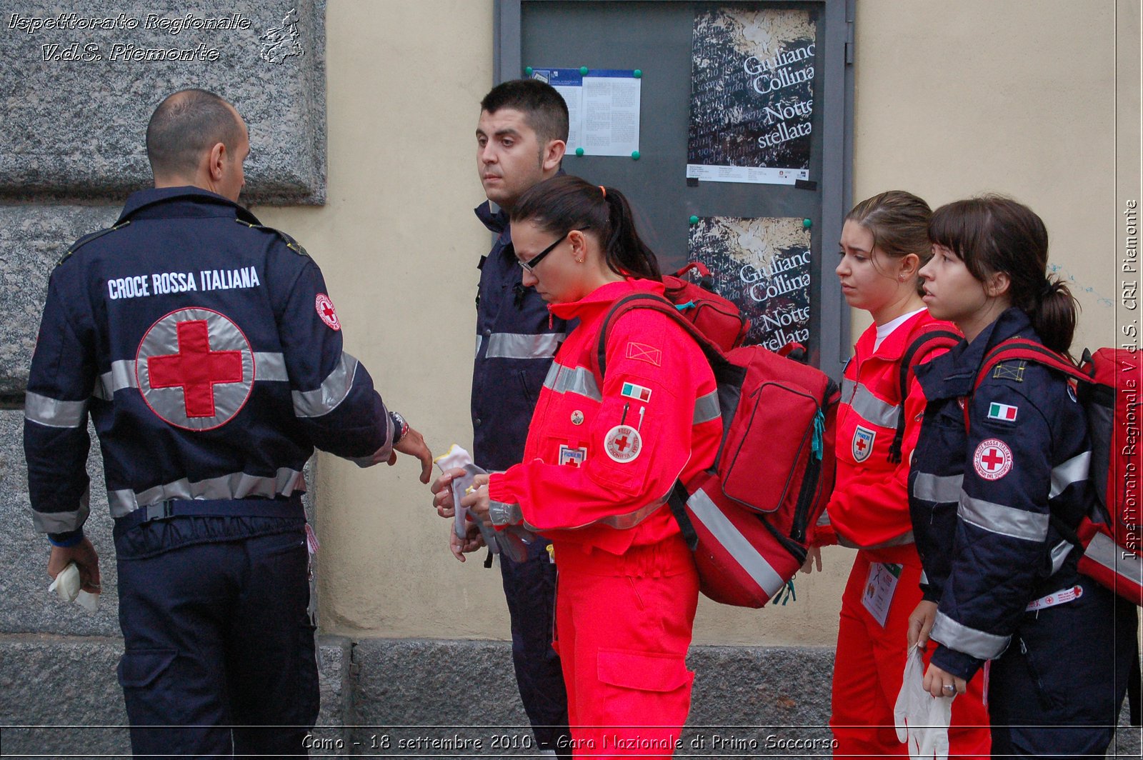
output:
[[555,641],[577,758],[670,758],[690,710],[687,647],[698,603],[674,536],[616,557],[555,539]]

